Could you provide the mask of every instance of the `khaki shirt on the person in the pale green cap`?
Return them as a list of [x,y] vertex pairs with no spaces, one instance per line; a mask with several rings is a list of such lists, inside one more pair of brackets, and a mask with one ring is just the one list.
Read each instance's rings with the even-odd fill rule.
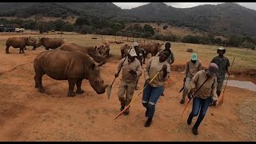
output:
[[191,59],[186,62],[185,78],[193,78],[199,70],[202,70],[202,62],[198,59],[197,62],[191,62]]

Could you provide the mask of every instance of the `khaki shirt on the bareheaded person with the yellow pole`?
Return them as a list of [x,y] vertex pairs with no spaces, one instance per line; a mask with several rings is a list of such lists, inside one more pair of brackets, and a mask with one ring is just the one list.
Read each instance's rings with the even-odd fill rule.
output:
[[158,71],[162,70],[163,65],[167,66],[166,78],[162,78],[163,71],[161,71],[158,74],[158,76],[154,78],[154,81],[151,82],[150,86],[154,86],[154,87],[164,86],[165,81],[170,77],[170,64],[167,61],[159,62],[159,57],[152,57],[146,63],[146,67],[144,71],[145,80],[148,78],[152,79],[154,75],[158,73]]

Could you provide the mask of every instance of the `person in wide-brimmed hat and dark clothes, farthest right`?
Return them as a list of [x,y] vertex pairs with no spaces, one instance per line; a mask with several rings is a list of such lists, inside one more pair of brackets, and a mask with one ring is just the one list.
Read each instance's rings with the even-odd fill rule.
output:
[[[230,60],[229,60],[229,58],[226,58],[224,56],[225,53],[226,53],[226,49],[224,47],[222,47],[222,46],[218,47],[218,50],[217,50],[218,56],[213,58],[211,61],[218,65],[218,78],[217,78],[217,82],[218,82],[217,95],[218,95],[218,97],[220,96],[220,94],[222,92],[222,85],[225,80],[225,74],[227,73],[230,75],[230,70],[229,70]],[[216,106],[216,102],[212,103],[211,105]]]

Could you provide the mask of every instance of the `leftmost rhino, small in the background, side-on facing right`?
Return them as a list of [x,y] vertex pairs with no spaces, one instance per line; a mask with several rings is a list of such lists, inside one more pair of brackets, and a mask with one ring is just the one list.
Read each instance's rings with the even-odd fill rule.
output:
[[14,48],[19,48],[19,54],[25,53],[24,48],[26,46],[34,46],[35,42],[31,37],[11,37],[6,40],[6,54],[9,53],[10,46]]

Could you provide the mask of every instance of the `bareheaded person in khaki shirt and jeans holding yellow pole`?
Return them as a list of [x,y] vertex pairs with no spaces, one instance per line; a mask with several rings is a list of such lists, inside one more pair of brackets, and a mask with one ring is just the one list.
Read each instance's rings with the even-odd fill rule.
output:
[[[152,57],[146,62],[146,68],[144,71],[145,77],[145,90],[143,90],[142,94],[142,105],[146,108],[145,116],[148,117],[145,127],[149,127],[151,125],[155,106],[158,102],[158,98],[162,94],[162,89],[164,82],[170,77],[170,65],[166,61],[167,58],[170,57],[170,50],[163,50],[159,57]],[[150,79],[158,73],[158,71],[162,70],[154,81],[150,82]]]

